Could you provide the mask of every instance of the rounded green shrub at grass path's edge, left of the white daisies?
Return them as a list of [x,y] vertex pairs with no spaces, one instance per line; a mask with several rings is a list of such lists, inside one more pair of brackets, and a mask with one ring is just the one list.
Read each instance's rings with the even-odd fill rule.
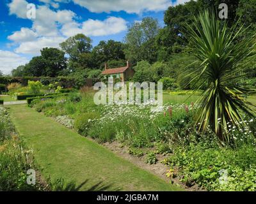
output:
[[93,126],[94,120],[97,118],[99,118],[98,113],[83,113],[76,118],[74,127],[79,134],[88,136],[88,131],[90,127]]

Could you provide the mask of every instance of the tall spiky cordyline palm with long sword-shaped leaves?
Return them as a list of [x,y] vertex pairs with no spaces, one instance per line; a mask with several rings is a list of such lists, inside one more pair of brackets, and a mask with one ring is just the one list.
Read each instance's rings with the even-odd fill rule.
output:
[[216,19],[214,12],[204,11],[195,17],[193,25],[188,25],[184,33],[191,54],[198,59],[196,62],[200,62],[200,66],[190,73],[196,74],[190,83],[203,81],[202,84],[208,84],[197,101],[200,106],[196,112],[196,124],[201,131],[211,128],[227,142],[228,124],[243,126],[243,122],[239,123],[243,120],[243,113],[253,115],[252,104],[243,98],[252,90],[236,85],[242,77],[244,62],[255,52],[255,36],[243,39],[245,30],[237,24],[229,29],[227,22]]

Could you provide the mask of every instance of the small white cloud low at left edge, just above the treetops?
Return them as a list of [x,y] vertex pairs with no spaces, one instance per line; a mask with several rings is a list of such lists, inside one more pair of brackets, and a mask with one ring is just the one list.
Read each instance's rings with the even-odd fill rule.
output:
[[15,54],[14,52],[0,50],[0,70],[4,74],[9,74],[12,69],[17,68],[17,66],[24,65],[28,63],[26,57]]

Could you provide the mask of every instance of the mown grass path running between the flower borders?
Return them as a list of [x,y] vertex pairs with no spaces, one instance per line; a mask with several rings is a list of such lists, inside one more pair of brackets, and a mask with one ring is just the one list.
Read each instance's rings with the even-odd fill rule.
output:
[[45,178],[75,181],[81,191],[97,184],[96,190],[108,191],[179,190],[26,105],[9,107],[17,131],[33,149]]

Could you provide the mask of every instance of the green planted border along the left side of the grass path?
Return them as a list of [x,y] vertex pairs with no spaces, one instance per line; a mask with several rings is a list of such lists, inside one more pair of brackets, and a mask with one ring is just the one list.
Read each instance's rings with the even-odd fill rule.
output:
[[0,191],[35,191],[37,187],[26,182],[33,157],[14,133],[6,108],[0,106]]

